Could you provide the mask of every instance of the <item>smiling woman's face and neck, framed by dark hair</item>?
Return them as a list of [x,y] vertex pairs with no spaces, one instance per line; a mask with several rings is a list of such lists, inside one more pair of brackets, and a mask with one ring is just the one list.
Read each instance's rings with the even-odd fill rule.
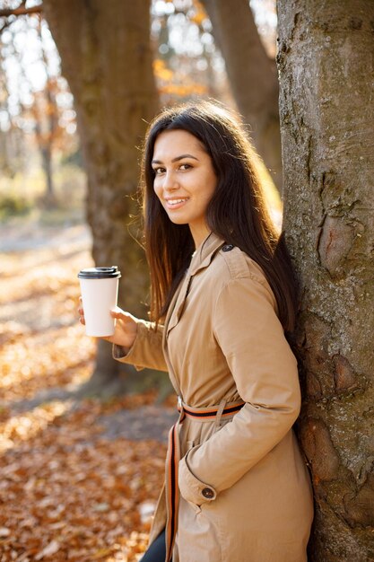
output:
[[209,233],[206,207],[217,178],[213,163],[196,136],[184,130],[163,131],[152,157],[153,189],[175,224],[188,224],[197,246]]

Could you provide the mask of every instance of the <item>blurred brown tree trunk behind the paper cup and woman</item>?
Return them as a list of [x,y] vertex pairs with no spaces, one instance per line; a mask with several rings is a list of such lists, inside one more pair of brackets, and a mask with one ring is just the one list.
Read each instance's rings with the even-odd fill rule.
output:
[[[118,302],[144,316],[148,277],[144,251],[133,237],[139,234],[134,224],[139,146],[158,108],[150,0],[44,0],[43,6],[74,95],[88,174],[93,259],[98,266],[120,268]],[[113,388],[121,370],[134,373],[114,361],[109,344],[100,341],[90,388]]]

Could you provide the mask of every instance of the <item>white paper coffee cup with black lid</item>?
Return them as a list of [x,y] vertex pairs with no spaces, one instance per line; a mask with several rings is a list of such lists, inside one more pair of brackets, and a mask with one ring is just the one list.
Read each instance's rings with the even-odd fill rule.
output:
[[117,306],[118,281],[121,277],[117,266],[82,269],[78,277],[87,336],[112,336],[116,324],[110,311]]

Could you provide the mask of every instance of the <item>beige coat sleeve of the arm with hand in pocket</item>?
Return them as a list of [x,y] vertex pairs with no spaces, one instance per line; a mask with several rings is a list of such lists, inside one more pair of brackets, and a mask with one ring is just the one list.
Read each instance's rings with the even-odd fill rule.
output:
[[245,405],[179,461],[180,493],[196,505],[235,484],[282,441],[299,415],[297,363],[274,309],[265,279],[232,279],[218,295],[213,333]]

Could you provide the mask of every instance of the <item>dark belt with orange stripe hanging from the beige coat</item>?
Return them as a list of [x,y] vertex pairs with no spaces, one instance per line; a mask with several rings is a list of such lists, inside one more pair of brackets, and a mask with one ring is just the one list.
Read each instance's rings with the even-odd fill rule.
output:
[[208,408],[192,408],[187,406],[180,397],[178,397],[178,421],[171,427],[169,433],[168,455],[166,459],[166,505],[167,505],[167,523],[166,523],[166,562],[170,561],[174,542],[178,529],[178,464],[180,460],[180,444],[179,444],[179,426],[186,417],[195,419],[200,422],[213,421],[216,422],[222,418],[232,417],[239,412],[245,402],[239,400],[237,402],[226,402],[222,400],[219,406],[211,406]]

